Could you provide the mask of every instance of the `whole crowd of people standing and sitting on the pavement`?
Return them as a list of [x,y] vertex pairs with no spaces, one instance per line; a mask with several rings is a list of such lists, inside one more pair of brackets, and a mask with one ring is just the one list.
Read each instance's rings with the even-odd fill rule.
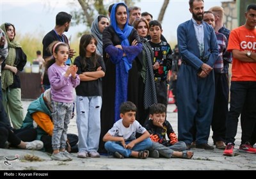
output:
[[[42,40],[43,56],[35,60],[45,64],[45,91],[25,117],[19,72],[26,54],[14,40],[13,24],[0,26],[0,148],[44,150],[61,161],[72,160],[70,152],[80,158],[191,159],[193,147],[214,149],[208,144],[212,128],[216,148],[233,156],[242,114],[239,151],[256,153],[256,4],[248,6],[244,25],[230,31],[223,8],[205,11],[204,0],[189,0],[192,18],[177,28],[173,51],[150,13],[125,3],[108,11],[109,18],[97,15],[81,36],[74,62],[64,34],[72,15],[56,15]],[[178,135],[166,116],[169,83]],[[78,136],[67,134],[75,109]]]

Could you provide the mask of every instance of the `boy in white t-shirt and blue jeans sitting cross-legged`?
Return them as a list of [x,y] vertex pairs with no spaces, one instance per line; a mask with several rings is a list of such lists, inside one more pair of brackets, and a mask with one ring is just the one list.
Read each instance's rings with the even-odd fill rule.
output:
[[[124,102],[120,105],[121,119],[116,121],[113,127],[105,134],[105,148],[116,158],[136,157],[147,159],[148,148],[152,146],[147,130],[135,120],[136,105],[132,102]],[[136,139],[136,132],[142,134]]]

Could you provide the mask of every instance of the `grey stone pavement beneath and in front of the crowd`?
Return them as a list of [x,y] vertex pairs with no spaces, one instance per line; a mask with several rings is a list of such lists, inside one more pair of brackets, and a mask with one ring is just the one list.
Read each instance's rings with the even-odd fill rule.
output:
[[[23,100],[24,113],[31,101]],[[172,113],[175,105],[168,105],[167,119],[177,133],[177,113]],[[68,132],[77,134],[76,117],[70,121]],[[212,132],[211,132],[212,134]],[[210,135],[211,136],[211,135]],[[235,157],[223,156],[223,150],[214,148],[212,151],[191,148],[194,152],[193,159],[115,159],[109,156],[100,156],[93,159],[79,159],[72,153],[73,160],[60,162],[51,160],[51,153],[31,150],[0,149],[0,170],[256,170],[256,154],[238,152],[241,142],[241,127],[239,125],[236,136]],[[211,137],[209,144],[212,143]],[[26,155],[35,155],[42,161],[29,162],[24,159]],[[19,160],[10,162],[11,166],[4,164],[4,156],[14,158],[19,155]],[[0,177],[1,178],[1,177]]]

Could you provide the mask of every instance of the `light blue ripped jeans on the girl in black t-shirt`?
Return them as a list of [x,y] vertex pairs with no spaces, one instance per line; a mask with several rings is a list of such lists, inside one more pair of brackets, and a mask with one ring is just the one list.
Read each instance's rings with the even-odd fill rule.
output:
[[100,96],[76,98],[79,152],[93,152],[99,149],[101,105]]

